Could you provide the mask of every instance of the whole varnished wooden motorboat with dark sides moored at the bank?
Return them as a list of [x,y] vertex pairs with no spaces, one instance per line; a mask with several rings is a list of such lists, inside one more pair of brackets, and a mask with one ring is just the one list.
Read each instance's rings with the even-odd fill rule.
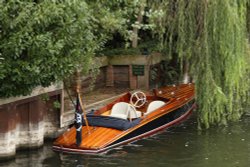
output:
[[185,120],[195,107],[194,84],[167,86],[151,94],[126,93],[87,115],[81,143],[72,127],[53,143],[53,150],[95,154],[136,141]]

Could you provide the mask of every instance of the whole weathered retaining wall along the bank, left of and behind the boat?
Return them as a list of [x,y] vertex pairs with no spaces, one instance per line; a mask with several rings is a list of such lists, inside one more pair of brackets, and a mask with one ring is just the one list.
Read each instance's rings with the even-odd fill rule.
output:
[[[150,67],[162,59],[160,54],[101,57],[96,60],[101,67],[94,85],[90,76],[81,76],[82,91],[89,92],[91,86],[94,89],[105,86],[148,89]],[[145,74],[134,76],[132,65],[144,65]],[[57,137],[60,128],[73,122],[74,106],[66,89],[59,85],[39,87],[30,96],[0,99],[0,159],[15,155],[20,148],[40,147],[45,137]],[[72,97],[75,97],[74,89],[73,85],[68,88]],[[42,100],[43,94],[49,98]],[[54,107],[55,101],[61,103],[60,109]]]

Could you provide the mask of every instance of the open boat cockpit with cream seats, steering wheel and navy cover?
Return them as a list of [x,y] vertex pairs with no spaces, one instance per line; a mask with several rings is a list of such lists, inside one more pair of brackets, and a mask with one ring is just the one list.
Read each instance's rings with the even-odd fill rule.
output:
[[163,100],[146,96],[141,91],[128,93],[125,97],[127,98],[114,102],[112,106],[87,114],[89,125],[126,130],[166,104]]

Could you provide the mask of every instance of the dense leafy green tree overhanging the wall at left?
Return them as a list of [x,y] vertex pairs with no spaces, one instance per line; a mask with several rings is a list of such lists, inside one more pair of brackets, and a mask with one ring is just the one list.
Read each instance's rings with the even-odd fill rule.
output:
[[0,1],[0,97],[27,95],[76,69],[92,68],[95,51],[123,27],[126,10],[115,5],[87,0]]

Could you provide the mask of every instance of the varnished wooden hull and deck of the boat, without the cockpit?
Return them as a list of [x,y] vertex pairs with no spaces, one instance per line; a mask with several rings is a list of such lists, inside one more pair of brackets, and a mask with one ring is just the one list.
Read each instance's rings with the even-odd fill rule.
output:
[[[142,118],[140,124],[133,128],[121,131],[104,127],[91,127],[92,131],[88,134],[84,127],[84,134],[82,135],[83,142],[79,147],[74,144],[75,129],[71,128],[69,132],[66,132],[66,134],[63,134],[54,142],[53,149],[69,153],[96,154],[119,145],[151,136],[167,127],[183,121],[191,114],[195,107],[194,86],[193,84],[189,84],[177,88],[168,87],[165,92],[163,89],[161,95],[157,95],[156,92],[156,96],[162,99],[170,98],[170,101],[166,106]],[[173,91],[175,91],[174,97],[172,94]]]

